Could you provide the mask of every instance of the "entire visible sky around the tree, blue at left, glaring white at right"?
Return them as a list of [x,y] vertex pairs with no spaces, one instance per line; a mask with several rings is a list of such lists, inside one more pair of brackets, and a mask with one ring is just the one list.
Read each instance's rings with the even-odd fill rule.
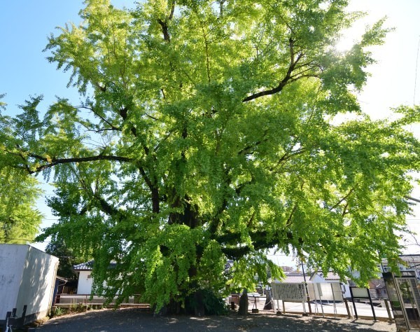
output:
[[[133,1],[128,0],[111,2],[116,6],[133,6]],[[80,8],[83,8],[81,0],[0,0],[0,94],[7,94],[3,99],[8,104],[7,114],[17,113],[15,105],[22,104],[29,95],[44,95],[41,107],[47,107],[56,95],[77,103],[77,91],[66,88],[69,74],[57,71],[55,64],[49,64],[45,60],[48,53],[42,50],[48,35],[57,33],[55,27],[80,21]],[[395,27],[386,44],[372,50],[378,63],[370,67],[372,77],[359,97],[363,109],[373,118],[389,116],[389,107],[413,104],[420,40],[420,0],[352,0],[350,8],[369,13],[358,28],[347,34],[350,41],[360,34],[360,27],[385,15],[388,16],[386,25]],[[420,69],[415,100],[420,104]],[[420,136],[419,126],[413,126],[411,130]],[[420,190],[417,189],[414,195],[420,198]],[[53,217],[43,200],[39,201],[39,208],[45,214],[43,226],[50,225]],[[416,211],[416,216],[408,217],[413,228],[420,225],[418,206]],[[415,251],[419,252],[420,247]]]

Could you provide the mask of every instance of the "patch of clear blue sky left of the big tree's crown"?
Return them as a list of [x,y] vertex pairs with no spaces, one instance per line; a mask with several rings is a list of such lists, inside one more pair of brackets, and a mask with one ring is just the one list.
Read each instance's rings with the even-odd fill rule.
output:
[[[77,97],[66,89],[68,75],[55,70],[42,52],[47,37],[65,22],[78,22],[82,1],[13,0],[0,1],[0,93],[15,113],[15,105],[29,95],[45,96],[51,102],[55,95]],[[47,104],[47,103],[45,103]]]

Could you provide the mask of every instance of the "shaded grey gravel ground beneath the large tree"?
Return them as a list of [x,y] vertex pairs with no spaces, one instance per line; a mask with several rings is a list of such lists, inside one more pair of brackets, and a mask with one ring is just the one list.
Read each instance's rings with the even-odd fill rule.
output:
[[395,324],[385,321],[323,319],[302,316],[276,316],[274,313],[227,316],[153,317],[138,309],[94,310],[55,317],[31,331],[130,332],[130,331],[388,331]]

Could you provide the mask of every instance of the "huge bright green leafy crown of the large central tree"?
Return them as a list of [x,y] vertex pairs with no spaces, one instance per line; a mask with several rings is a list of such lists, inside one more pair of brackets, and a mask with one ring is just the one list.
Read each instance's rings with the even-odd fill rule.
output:
[[345,0],[85,3],[46,48],[80,101],[41,118],[32,98],[0,139],[9,165],[52,177],[41,239],[91,253],[99,291],[160,308],[279,275],[269,249],[360,282],[398,255],[419,108],[371,120],[355,95],[383,20],[340,53],[360,15]]

